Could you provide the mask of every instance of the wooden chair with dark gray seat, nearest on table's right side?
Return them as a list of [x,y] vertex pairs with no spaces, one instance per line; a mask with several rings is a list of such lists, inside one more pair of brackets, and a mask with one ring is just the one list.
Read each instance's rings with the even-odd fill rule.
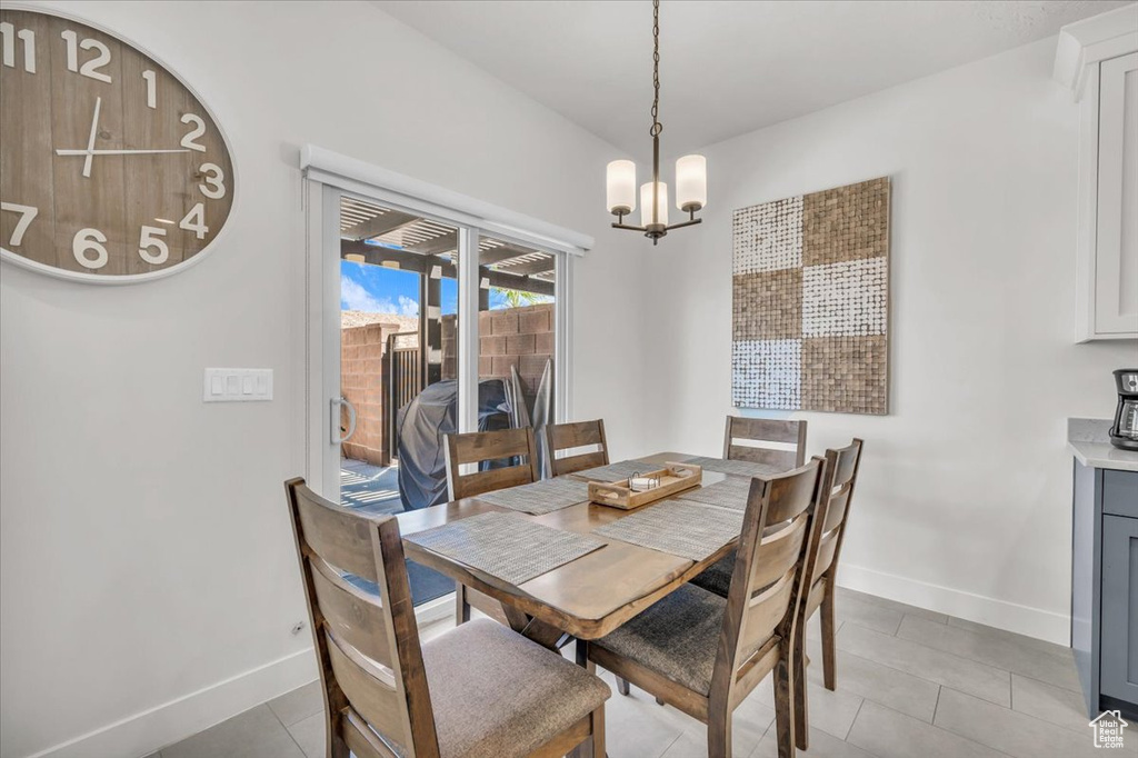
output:
[[732,714],[772,670],[778,756],[794,755],[795,641],[824,469],[815,458],[751,481],[727,598],[685,584],[588,644],[597,666],[707,724],[711,758],[732,755]]

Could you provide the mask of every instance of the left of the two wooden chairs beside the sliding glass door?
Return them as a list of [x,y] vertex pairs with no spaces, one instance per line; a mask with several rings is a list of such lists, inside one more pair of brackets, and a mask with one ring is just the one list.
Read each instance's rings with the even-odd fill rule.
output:
[[[447,500],[476,497],[486,492],[517,487],[537,481],[537,445],[534,430],[498,429],[446,435],[446,489]],[[504,462],[501,468],[485,468],[483,463]],[[464,473],[463,468],[475,470]],[[454,593],[454,621],[470,620],[470,608],[475,607],[490,618],[506,624],[502,603],[489,595],[459,583]]]

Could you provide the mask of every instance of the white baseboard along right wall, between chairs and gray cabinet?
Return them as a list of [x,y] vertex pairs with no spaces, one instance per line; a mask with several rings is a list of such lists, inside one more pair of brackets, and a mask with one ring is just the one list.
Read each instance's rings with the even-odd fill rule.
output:
[[838,585],[1058,645],[1071,644],[1071,617],[1066,613],[1029,608],[849,563],[842,563],[838,569]]

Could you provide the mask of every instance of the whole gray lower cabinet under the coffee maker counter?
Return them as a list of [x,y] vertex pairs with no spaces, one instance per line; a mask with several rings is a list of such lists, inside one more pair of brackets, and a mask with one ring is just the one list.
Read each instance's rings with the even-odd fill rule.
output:
[[1074,463],[1071,646],[1088,718],[1138,718],[1138,472]]

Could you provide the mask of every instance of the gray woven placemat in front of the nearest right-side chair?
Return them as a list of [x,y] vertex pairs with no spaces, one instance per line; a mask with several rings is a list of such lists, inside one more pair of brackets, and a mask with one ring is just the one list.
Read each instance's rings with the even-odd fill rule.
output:
[[701,561],[742,530],[742,511],[666,500],[594,529],[594,534]]

